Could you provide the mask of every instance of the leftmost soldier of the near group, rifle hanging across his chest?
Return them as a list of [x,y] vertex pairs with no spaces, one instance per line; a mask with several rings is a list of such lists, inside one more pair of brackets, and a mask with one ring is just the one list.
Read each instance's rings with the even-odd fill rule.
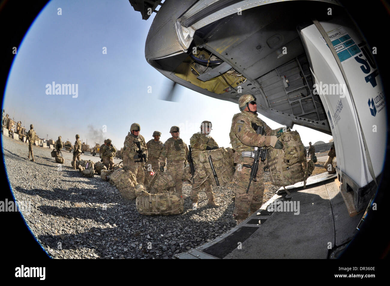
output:
[[[141,126],[133,123],[130,126],[130,132],[123,143],[123,168],[131,171],[137,178],[137,183],[145,181],[145,162],[147,161],[147,147],[144,136],[140,135]],[[141,152],[136,142],[140,142]],[[134,157],[138,158],[134,158]],[[138,161],[138,162],[136,162]]]

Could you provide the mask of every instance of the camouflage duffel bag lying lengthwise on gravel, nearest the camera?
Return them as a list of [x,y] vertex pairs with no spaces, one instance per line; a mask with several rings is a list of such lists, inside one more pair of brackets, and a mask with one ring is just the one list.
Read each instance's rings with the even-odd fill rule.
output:
[[[139,184],[142,185],[142,184]],[[184,211],[184,199],[174,192],[149,194],[137,185],[135,206],[141,215],[178,215]]]

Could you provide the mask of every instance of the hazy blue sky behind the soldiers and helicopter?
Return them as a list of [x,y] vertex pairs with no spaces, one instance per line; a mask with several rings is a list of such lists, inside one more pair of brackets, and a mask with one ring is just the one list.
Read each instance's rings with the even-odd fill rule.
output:
[[[62,15],[58,15],[61,8]],[[40,138],[88,144],[110,138],[122,147],[130,125],[137,122],[148,141],[154,130],[161,141],[172,125],[190,144],[200,123],[213,123],[211,136],[230,146],[231,119],[238,105],[210,98],[177,85],[177,102],[160,100],[169,80],[145,60],[145,40],[155,14],[142,20],[128,0],[56,1],[39,14],[23,39],[11,68],[3,108],[16,121],[33,123]],[[106,47],[106,54],[103,54]],[[78,84],[78,96],[46,94],[46,85]],[[148,93],[151,86],[152,92]],[[281,126],[260,117],[273,129]],[[305,146],[332,137],[295,125]]]

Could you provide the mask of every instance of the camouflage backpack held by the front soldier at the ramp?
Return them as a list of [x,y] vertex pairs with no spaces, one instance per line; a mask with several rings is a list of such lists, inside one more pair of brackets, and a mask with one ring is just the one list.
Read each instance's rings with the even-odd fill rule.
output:
[[[271,135],[276,135],[280,130],[272,130]],[[283,142],[283,149],[270,147],[267,151],[267,163],[271,183],[277,187],[286,187],[303,181],[306,187],[306,179],[314,170],[314,162],[307,162],[305,146],[303,146],[297,131],[283,132],[279,140]]]

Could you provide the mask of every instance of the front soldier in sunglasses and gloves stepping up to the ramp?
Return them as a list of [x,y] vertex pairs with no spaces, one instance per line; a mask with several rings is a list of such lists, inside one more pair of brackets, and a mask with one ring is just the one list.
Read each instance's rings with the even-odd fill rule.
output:
[[[252,166],[253,158],[242,156],[243,151],[254,151],[254,147],[271,146],[277,149],[283,148],[283,143],[276,136],[269,136],[271,128],[257,117],[256,98],[252,94],[244,94],[238,101],[240,113],[235,114],[232,119],[232,127],[230,128],[230,143],[235,151],[234,163],[236,163],[236,171],[234,172],[234,211],[233,217],[237,220],[237,224],[248,217],[248,209],[250,215],[258,210],[263,201],[264,194],[264,178],[263,167],[261,162],[257,170],[257,175],[250,184],[249,192],[246,194],[250,178],[250,167]],[[257,134],[252,124],[264,127],[262,134]]]

